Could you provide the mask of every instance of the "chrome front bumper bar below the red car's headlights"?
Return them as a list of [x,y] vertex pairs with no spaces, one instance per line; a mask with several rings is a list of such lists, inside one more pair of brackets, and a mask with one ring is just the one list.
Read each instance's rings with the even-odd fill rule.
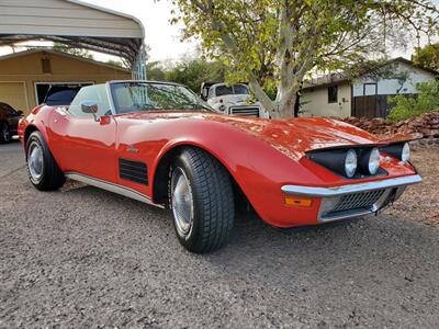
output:
[[399,178],[394,178],[394,179],[386,179],[386,180],[341,185],[341,186],[331,186],[331,188],[283,185],[282,192],[284,192],[286,194],[294,194],[294,195],[327,197],[327,196],[338,196],[338,195],[344,195],[344,194],[349,194],[349,193],[367,192],[367,191],[373,191],[373,190],[380,190],[380,189],[410,185],[410,184],[420,183],[421,181],[423,181],[423,179],[419,174],[412,174],[412,175],[399,177]]

